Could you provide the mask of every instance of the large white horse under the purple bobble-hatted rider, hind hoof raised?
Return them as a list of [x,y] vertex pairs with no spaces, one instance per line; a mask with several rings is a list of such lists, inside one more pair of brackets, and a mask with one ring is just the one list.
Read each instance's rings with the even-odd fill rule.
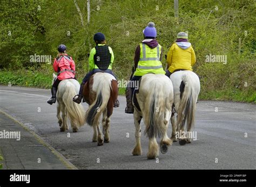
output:
[[132,154],[142,155],[140,121],[143,118],[146,125],[145,134],[149,137],[147,159],[156,159],[159,154],[157,136],[162,138],[160,141],[161,153],[166,153],[168,146],[172,144],[171,139],[167,136],[173,104],[172,82],[165,75],[146,74],[142,76],[140,88],[133,97],[137,98],[138,104],[134,103],[133,98],[136,145]]

